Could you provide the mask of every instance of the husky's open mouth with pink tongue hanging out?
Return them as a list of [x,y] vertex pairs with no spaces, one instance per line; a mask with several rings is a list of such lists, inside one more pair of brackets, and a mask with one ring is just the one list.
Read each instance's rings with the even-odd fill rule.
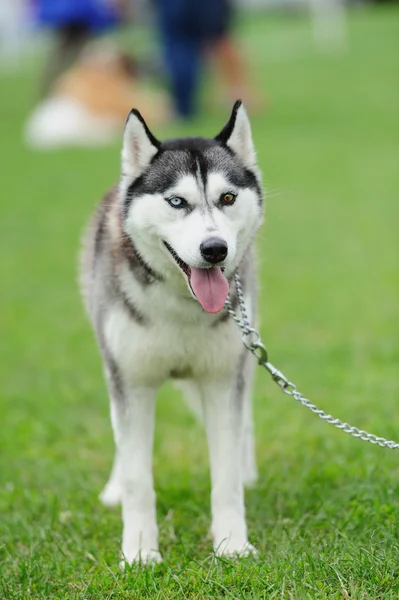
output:
[[229,293],[229,282],[223,274],[224,269],[221,267],[203,269],[192,267],[180,258],[168,242],[164,241],[164,244],[177,266],[184,273],[189,289],[202,308],[210,314],[220,312]]

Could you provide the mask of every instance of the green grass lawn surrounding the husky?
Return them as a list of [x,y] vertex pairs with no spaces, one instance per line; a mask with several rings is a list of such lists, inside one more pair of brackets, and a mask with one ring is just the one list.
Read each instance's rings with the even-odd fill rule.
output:
[[[317,53],[304,19],[247,19],[243,34],[270,102],[253,128],[271,190],[257,241],[271,359],[327,411],[398,439],[399,12],[353,14],[341,54]],[[279,39],[294,40],[281,60]],[[119,511],[97,500],[108,403],[76,285],[80,233],[117,178],[119,147],[25,149],[36,72],[1,80],[0,597],[398,598],[398,455],[322,423],[263,372],[260,480],[247,493],[259,560],[212,556],[204,434],[166,387],[165,560],[119,571]],[[191,131],[216,133],[224,117]]]

